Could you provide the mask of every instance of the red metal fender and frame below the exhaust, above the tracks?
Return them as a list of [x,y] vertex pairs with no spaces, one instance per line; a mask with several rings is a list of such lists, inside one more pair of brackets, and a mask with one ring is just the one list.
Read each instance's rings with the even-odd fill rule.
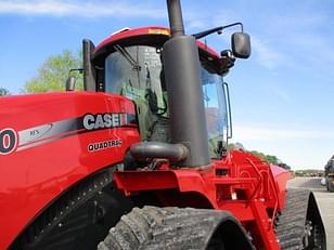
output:
[[[280,173],[275,177],[285,176]],[[183,207],[182,197],[192,194],[195,200],[230,211],[251,232],[258,249],[280,249],[273,220],[281,209],[279,199],[285,198],[285,194],[277,185],[270,166],[248,153],[234,150],[223,160],[213,161],[211,167],[175,170],[164,166],[164,170],[115,172],[115,179],[117,186],[129,195],[154,190],[167,206]],[[174,192],[168,193],[170,189]],[[198,202],[192,206],[202,208]]]

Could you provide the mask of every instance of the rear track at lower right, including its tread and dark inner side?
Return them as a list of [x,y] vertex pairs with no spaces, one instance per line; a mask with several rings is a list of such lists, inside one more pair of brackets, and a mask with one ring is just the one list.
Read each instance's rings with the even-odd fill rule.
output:
[[278,218],[275,232],[282,250],[324,250],[325,232],[313,194],[287,189],[285,209]]

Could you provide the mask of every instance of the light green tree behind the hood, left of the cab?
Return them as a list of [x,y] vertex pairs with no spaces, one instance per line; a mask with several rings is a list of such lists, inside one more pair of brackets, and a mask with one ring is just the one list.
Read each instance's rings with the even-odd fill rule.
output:
[[[25,83],[23,91],[36,93],[65,90],[69,69],[81,68],[80,55],[81,52],[73,53],[66,50],[60,55],[48,57],[38,69],[37,76]],[[77,71],[72,74],[78,78],[76,89],[82,89],[82,76]]]

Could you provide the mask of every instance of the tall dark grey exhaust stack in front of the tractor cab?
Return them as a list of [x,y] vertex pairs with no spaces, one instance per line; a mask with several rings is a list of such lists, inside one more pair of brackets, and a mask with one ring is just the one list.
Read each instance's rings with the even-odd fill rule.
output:
[[170,111],[172,143],[188,147],[178,166],[209,165],[201,65],[195,38],[184,35],[179,0],[167,0],[171,38],[164,44],[163,61]]

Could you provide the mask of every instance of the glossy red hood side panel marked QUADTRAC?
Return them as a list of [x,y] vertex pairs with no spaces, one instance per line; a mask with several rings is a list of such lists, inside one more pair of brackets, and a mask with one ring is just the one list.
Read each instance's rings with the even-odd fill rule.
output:
[[[87,110],[134,115],[132,102],[102,93],[0,98],[0,131],[11,128],[18,135],[14,152],[0,154],[0,249],[62,192],[101,168],[123,161],[125,150],[139,141],[136,124],[87,131],[80,123]],[[121,145],[88,148],[119,140]]]

